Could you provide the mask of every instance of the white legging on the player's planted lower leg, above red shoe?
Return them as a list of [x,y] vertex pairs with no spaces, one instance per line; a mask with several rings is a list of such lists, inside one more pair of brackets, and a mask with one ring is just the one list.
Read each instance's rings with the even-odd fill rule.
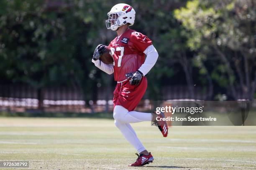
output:
[[121,123],[115,120],[115,126],[121,131],[126,140],[133,145],[138,153],[146,150],[129,123]]

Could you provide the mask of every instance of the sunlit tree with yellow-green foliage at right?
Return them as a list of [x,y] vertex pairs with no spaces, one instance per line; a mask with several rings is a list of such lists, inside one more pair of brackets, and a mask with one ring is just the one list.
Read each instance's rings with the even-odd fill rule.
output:
[[175,10],[176,18],[190,32],[190,49],[208,61],[218,57],[212,78],[230,89],[234,99],[252,100],[255,93],[255,11],[253,0],[193,0]]

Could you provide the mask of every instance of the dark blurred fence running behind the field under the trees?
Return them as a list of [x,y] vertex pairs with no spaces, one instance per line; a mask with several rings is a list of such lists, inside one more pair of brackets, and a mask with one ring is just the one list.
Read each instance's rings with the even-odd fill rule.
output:
[[[78,87],[49,87],[43,90],[28,85],[0,85],[0,110],[46,112],[103,112],[113,110],[113,89],[97,88],[97,99],[84,101],[84,94]],[[194,87],[194,97],[187,86],[176,85],[163,87],[163,100],[195,99],[206,100],[207,89]],[[86,94],[85,94],[86,95]],[[154,100],[154,99],[152,99]],[[136,110],[150,110],[148,91]]]

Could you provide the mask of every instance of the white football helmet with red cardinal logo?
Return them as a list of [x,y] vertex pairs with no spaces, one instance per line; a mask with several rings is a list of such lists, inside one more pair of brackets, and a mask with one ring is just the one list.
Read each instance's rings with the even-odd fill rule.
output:
[[120,3],[113,6],[108,12],[108,20],[106,20],[106,27],[113,31],[118,27],[129,23],[133,25],[135,20],[135,10],[128,4]]

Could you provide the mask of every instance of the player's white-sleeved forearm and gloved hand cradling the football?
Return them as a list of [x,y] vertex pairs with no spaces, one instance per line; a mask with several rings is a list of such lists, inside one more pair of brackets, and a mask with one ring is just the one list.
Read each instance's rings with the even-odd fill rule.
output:
[[113,74],[114,72],[114,66],[112,64],[105,64],[101,62],[100,56],[104,53],[104,46],[102,44],[98,45],[93,53],[92,62],[96,67],[98,67],[100,70],[110,74]]

